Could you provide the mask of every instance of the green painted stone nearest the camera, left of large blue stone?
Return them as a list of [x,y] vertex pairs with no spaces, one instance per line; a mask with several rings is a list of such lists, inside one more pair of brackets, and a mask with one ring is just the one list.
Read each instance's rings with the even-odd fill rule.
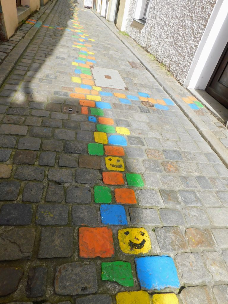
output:
[[128,262],[101,263],[101,279],[102,281],[117,282],[122,286],[134,286],[131,264]]

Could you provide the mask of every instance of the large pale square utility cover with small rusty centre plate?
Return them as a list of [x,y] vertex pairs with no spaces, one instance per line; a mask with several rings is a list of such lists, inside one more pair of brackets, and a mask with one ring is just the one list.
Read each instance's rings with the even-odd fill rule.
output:
[[119,90],[126,89],[126,84],[117,70],[94,67],[91,71],[96,86]]

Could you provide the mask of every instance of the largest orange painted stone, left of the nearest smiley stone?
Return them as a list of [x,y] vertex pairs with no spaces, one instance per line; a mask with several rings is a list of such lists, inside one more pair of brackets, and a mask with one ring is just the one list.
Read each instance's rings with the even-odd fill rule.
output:
[[80,257],[112,257],[114,243],[108,227],[80,227],[78,229]]

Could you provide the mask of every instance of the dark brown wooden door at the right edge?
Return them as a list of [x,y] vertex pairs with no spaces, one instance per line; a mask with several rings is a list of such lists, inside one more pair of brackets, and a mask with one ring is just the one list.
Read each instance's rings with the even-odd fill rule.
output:
[[228,43],[205,91],[228,109]]

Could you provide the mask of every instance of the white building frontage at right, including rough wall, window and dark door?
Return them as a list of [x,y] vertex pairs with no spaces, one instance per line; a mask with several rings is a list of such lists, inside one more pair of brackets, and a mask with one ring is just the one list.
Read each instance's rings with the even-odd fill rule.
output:
[[[206,89],[228,107],[227,0],[102,1],[110,2],[103,16],[153,54],[184,87]],[[113,13],[109,16],[112,7],[114,19]]]

